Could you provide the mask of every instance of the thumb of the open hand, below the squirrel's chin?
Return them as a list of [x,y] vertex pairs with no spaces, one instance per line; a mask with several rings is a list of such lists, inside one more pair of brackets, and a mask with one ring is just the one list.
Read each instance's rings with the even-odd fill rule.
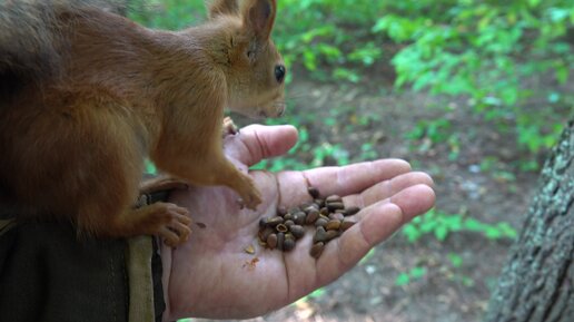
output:
[[290,125],[250,125],[241,128],[239,135],[224,139],[226,155],[253,166],[264,158],[287,153],[296,143],[297,129]]

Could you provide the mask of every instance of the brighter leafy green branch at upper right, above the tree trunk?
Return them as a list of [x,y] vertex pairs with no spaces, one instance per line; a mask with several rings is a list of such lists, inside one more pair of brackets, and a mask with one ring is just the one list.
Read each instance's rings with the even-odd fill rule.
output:
[[467,96],[485,120],[502,129],[512,121],[527,150],[554,145],[562,119],[547,116],[561,108],[561,94],[547,92],[547,101],[535,108],[526,104],[537,90],[548,90],[537,77],[552,75],[547,82],[565,85],[574,67],[567,39],[574,26],[571,1],[439,1],[448,2],[441,14],[395,10],[373,27],[407,45],[393,58],[395,86]]

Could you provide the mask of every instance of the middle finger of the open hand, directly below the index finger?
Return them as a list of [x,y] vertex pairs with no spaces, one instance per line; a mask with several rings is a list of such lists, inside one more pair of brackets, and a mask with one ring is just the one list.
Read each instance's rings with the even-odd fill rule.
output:
[[434,186],[433,178],[422,172],[412,172],[398,175],[388,180],[383,180],[360,194],[349,195],[343,198],[346,206],[358,206],[360,208],[372,205],[376,202],[389,198],[398,192],[414,185]]

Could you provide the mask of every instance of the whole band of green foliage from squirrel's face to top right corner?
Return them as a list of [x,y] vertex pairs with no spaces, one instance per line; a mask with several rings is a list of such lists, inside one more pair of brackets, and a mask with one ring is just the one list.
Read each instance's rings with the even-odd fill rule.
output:
[[[556,115],[572,108],[565,88],[550,89],[564,86],[574,68],[574,7],[568,0],[280,4],[279,46],[289,62],[301,64],[318,79],[357,82],[394,55],[397,88],[464,96],[474,114],[515,134],[516,143],[533,154],[555,144],[563,127]],[[396,55],[388,39],[399,48]],[[531,100],[541,96],[547,99]],[[417,127],[443,131],[444,120],[434,121],[439,124]],[[456,157],[455,150],[451,158]]]

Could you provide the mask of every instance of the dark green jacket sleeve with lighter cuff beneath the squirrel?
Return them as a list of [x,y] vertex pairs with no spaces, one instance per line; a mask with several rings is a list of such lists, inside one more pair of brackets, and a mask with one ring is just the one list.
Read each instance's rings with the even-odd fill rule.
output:
[[[123,322],[142,305],[154,306],[144,310],[155,315],[151,321],[161,321],[161,261],[156,243],[151,237],[148,241],[150,254],[144,256],[149,264],[133,270],[129,267],[130,243],[125,240],[78,236],[66,223],[0,227],[0,321]],[[151,281],[144,283],[150,285],[129,276],[146,270],[151,271]],[[152,294],[139,296],[140,290]],[[144,297],[152,299],[151,303],[133,303]]]

